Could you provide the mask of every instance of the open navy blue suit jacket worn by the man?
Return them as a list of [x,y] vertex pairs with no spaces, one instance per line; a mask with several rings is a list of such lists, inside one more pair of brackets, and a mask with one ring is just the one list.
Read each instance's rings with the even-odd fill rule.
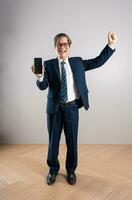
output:
[[[93,59],[83,60],[81,57],[70,57],[69,63],[72,69],[74,81],[76,83],[80,98],[77,100],[78,107],[84,106],[86,110],[89,108],[88,88],[86,85],[85,71],[92,70],[102,66],[114,53],[115,49],[111,49],[108,45],[102,50],[99,56]],[[58,58],[47,60],[44,62],[45,72],[42,82],[37,81],[40,90],[48,90],[47,109],[48,114],[55,114],[59,109],[60,94],[60,71]]]

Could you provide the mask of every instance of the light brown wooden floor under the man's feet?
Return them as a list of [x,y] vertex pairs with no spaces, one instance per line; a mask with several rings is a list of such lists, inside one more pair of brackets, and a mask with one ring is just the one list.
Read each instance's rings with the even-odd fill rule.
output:
[[46,184],[47,145],[0,146],[0,200],[132,200],[132,145],[79,145],[77,183],[65,179],[65,145],[60,173]]

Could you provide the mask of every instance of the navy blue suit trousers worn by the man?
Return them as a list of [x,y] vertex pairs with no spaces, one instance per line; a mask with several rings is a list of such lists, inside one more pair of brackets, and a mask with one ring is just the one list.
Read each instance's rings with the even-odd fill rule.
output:
[[64,130],[66,140],[66,162],[65,168],[68,173],[75,172],[77,167],[77,138],[79,111],[76,101],[70,106],[60,104],[57,113],[47,114],[47,127],[49,133],[49,146],[47,164],[50,173],[57,173],[60,169],[58,160],[59,142],[62,130]]

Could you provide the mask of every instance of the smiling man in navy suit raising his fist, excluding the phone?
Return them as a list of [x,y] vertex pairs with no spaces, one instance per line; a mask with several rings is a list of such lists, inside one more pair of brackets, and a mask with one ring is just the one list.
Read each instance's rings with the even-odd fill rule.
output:
[[[88,110],[89,108],[85,71],[102,66],[114,53],[116,40],[116,34],[109,32],[108,44],[100,55],[93,59],[84,60],[81,57],[69,57],[72,41],[67,34],[59,33],[54,38],[57,58],[46,60],[43,66],[43,73],[36,74],[38,88],[40,90],[48,88],[46,111],[49,133],[48,185],[56,181],[56,176],[60,169],[58,154],[59,141],[63,129],[67,146],[65,162],[67,182],[71,185],[76,183],[78,109],[84,107]],[[35,73],[34,65],[32,65],[32,71]]]

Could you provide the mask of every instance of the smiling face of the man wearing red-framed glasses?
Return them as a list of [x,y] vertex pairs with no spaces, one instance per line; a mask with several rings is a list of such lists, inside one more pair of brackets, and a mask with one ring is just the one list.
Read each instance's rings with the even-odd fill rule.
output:
[[70,46],[67,41],[67,37],[61,37],[58,39],[56,47],[57,55],[60,59],[65,60],[70,53]]

